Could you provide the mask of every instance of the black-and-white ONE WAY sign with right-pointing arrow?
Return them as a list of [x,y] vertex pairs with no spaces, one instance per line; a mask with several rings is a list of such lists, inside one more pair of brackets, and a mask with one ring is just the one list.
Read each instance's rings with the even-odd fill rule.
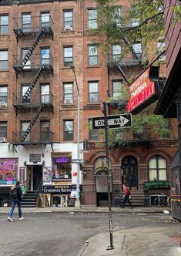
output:
[[[132,114],[121,114],[116,116],[108,116],[108,128],[129,128],[132,127]],[[92,129],[104,129],[105,120],[104,117],[92,118]]]

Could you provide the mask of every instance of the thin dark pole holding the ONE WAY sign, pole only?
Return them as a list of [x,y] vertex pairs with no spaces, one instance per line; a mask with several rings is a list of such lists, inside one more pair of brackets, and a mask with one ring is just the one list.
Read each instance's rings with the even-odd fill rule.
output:
[[[105,120],[105,142],[106,142],[106,165],[109,170],[109,145],[108,145],[108,125],[107,125],[107,103],[103,102],[103,113]],[[112,170],[111,170],[112,171]],[[108,180],[108,204],[109,204],[109,236],[110,236],[110,245],[106,250],[113,250],[113,241],[112,241],[112,210],[111,210],[111,176],[112,173],[107,173]]]

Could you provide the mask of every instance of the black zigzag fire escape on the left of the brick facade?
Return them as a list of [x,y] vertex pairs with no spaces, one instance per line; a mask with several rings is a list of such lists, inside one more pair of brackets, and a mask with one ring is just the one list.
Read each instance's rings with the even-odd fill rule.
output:
[[[18,93],[13,94],[13,106],[16,115],[18,113],[31,114],[32,118],[28,121],[28,126],[19,133],[14,134],[13,144],[48,144],[52,146],[53,133],[50,130],[39,130],[40,134],[34,133],[30,136],[32,127],[38,120],[42,111],[53,113],[53,96],[50,91],[42,93],[39,86],[36,86],[41,76],[53,76],[53,59],[49,48],[40,49],[37,47],[39,42],[45,38],[53,39],[53,23],[49,16],[49,22],[42,24],[40,17],[31,17],[31,25],[22,25],[22,19],[14,19],[14,32],[17,42],[26,40],[31,42],[29,49],[25,49],[22,54],[14,56],[13,67],[16,77],[21,78],[21,83],[25,77],[25,91],[22,92],[21,86],[18,86]],[[39,52],[35,53],[34,52]],[[27,83],[27,77],[29,79]],[[24,82],[24,81],[23,81]],[[36,136],[36,139],[35,139]],[[35,139],[35,140],[34,140]]]

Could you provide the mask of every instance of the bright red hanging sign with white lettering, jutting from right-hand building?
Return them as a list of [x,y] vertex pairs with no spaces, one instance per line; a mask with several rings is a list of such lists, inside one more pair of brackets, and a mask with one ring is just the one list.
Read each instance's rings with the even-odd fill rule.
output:
[[150,103],[158,99],[157,83],[149,79],[149,70],[146,69],[129,86],[130,99],[126,108],[129,113],[139,113]]

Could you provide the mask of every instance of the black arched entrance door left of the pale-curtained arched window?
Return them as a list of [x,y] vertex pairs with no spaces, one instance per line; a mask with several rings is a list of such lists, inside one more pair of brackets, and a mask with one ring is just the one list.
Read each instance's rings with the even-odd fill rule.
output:
[[138,188],[138,163],[135,157],[128,156],[122,160],[122,184],[130,189]]

